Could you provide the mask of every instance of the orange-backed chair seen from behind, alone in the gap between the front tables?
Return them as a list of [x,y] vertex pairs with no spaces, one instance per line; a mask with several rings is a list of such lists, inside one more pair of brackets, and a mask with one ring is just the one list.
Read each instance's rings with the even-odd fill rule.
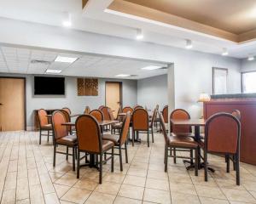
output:
[[[135,133],[147,133],[147,142],[149,147],[149,118],[148,111],[144,109],[137,109],[132,113],[132,146],[134,146]],[[154,140],[154,139],[153,139]]]

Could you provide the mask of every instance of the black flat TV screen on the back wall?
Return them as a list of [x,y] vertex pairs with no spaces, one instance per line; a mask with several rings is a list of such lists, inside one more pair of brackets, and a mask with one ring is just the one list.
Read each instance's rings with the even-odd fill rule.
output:
[[65,95],[64,77],[34,77],[35,95]]

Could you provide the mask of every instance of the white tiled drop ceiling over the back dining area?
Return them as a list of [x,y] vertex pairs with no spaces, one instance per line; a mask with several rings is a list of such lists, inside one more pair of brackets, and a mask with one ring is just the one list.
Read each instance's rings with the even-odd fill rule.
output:
[[[79,58],[73,64],[55,62],[57,55]],[[31,60],[50,61],[50,65],[33,64]],[[118,74],[136,75],[125,77],[140,79],[165,74],[166,70],[145,71],[148,65],[166,64],[137,59],[114,58],[103,55],[58,53],[44,49],[0,47],[0,72],[20,74],[45,74],[47,69],[61,70],[61,76],[73,77],[109,77]]]

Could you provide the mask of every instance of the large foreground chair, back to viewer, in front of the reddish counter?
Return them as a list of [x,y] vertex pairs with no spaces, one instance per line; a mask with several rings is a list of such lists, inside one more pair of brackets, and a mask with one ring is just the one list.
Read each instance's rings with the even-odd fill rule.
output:
[[[233,156],[236,163],[236,184],[240,185],[240,137],[241,123],[230,113],[220,112],[207,119],[205,140],[201,141],[204,150],[205,181],[208,180],[207,153]],[[230,160],[227,161],[227,173],[230,172]]]

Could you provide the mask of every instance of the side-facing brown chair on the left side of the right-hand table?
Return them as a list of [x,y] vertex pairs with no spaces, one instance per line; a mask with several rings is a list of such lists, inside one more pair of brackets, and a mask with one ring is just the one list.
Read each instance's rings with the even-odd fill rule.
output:
[[170,155],[170,157],[173,158],[183,158],[183,159],[189,159],[195,160],[195,176],[198,176],[198,150],[199,145],[194,141],[194,139],[190,137],[183,137],[183,136],[168,136],[166,133],[166,122],[162,114],[160,114],[160,126],[162,127],[162,133],[164,134],[166,145],[165,145],[165,172],[167,172],[168,167],[168,152],[172,149],[187,149],[187,150],[194,150],[195,151],[195,158],[194,157],[187,157],[187,156],[176,156],[176,155]]

